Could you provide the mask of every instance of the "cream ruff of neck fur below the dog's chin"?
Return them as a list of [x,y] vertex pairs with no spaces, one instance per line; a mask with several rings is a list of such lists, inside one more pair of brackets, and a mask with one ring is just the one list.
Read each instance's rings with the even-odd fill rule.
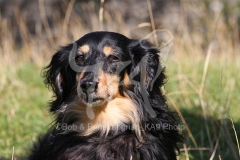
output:
[[[93,117],[89,117],[89,112],[92,112],[90,114],[93,114]],[[125,97],[115,97],[97,107],[88,107],[80,100],[75,101],[67,106],[63,123],[77,126],[76,131],[80,136],[89,136],[96,132],[107,136],[111,130],[117,132],[124,124],[129,124],[139,141],[143,140],[137,106]]]

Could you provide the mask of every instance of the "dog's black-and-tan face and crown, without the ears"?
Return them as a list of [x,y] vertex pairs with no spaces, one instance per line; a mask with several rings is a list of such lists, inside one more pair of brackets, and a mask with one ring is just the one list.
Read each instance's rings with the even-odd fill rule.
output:
[[129,39],[120,34],[105,32],[85,35],[77,42],[75,60],[81,69],[76,76],[76,85],[84,103],[102,106],[123,96],[121,85],[126,87],[129,83],[127,70],[131,56],[128,43]]

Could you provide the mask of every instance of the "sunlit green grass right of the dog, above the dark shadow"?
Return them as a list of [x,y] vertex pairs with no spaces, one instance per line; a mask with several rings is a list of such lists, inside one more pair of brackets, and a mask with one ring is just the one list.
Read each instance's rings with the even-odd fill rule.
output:
[[203,97],[199,97],[198,90],[201,86],[204,59],[194,57],[181,60],[168,60],[167,94],[170,98],[177,97],[182,105],[181,109],[200,106],[202,98],[206,111],[216,118],[227,118],[230,115],[234,120],[240,120],[238,114],[240,75],[239,63],[235,60],[219,59],[212,57],[209,62],[208,72],[204,83]]

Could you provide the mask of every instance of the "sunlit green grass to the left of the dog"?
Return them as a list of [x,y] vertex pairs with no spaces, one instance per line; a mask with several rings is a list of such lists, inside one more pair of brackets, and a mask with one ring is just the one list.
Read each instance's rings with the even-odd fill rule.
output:
[[23,156],[50,122],[46,103],[50,93],[40,77],[40,68],[19,64],[1,69],[1,157]]

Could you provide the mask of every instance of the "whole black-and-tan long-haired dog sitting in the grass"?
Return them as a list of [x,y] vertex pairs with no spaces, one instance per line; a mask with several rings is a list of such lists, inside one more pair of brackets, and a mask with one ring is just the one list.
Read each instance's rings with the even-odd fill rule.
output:
[[56,119],[30,160],[176,160],[182,136],[160,87],[158,48],[92,32],[45,68]]

